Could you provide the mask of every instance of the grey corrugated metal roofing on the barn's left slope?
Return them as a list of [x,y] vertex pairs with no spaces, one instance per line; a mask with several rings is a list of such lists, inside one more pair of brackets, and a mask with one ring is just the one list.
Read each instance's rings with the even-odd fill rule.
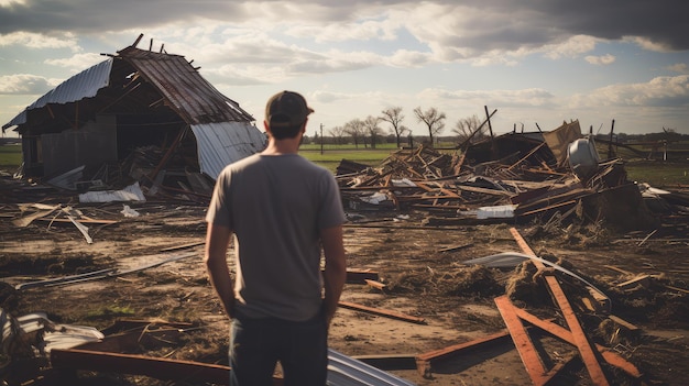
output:
[[84,98],[95,97],[98,90],[109,85],[111,68],[112,58],[109,58],[63,81],[31,106],[26,107],[24,111],[14,117],[10,122],[2,125],[2,129],[26,123],[28,110],[39,109],[48,103],[64,104],[76,102]]

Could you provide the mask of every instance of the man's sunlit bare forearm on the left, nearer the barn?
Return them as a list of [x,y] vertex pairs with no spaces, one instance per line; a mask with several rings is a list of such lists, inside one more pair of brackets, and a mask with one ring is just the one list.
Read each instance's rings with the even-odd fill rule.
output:
[[231,229],[214,225],[209,222],[206,232],[206,254],[204,255],[210,285],[216,290],[216,294],[222,301],[225,312],[230,318],[232,318],[234,305],[234,286],[227,263],[227,252],[231,235]]

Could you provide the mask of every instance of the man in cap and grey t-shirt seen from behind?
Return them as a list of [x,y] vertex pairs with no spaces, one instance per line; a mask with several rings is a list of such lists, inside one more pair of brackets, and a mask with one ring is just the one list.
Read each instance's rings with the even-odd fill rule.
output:
[[286,386],[326,384],[328,326],[347,275],[344,212],[332,174],[297,154],[313,111],[296,92],[273,96],[267,147],[220,173],[208,208],[205,263],[232,320],[230,385],[272,385],[277,362]]

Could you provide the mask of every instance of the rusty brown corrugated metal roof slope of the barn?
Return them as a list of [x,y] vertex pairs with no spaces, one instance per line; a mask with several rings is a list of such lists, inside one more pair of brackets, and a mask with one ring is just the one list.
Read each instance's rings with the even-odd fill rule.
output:
[[189,124],[253,122],[255,119],[223,96],[179,55],[127,47],[119,56],[131,63]]

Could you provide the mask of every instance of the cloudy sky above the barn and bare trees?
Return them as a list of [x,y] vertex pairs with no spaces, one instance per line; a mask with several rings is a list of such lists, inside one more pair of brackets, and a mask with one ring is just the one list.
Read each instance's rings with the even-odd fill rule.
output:
[[689,134],[688,15],[686,0],[0,0],[0,124],[144,34],[261,129],[291,89],[316,110],[309,135],[390,107],[419,135],[416,107],[447,115],[442,134],[484,107],[499,133]]

